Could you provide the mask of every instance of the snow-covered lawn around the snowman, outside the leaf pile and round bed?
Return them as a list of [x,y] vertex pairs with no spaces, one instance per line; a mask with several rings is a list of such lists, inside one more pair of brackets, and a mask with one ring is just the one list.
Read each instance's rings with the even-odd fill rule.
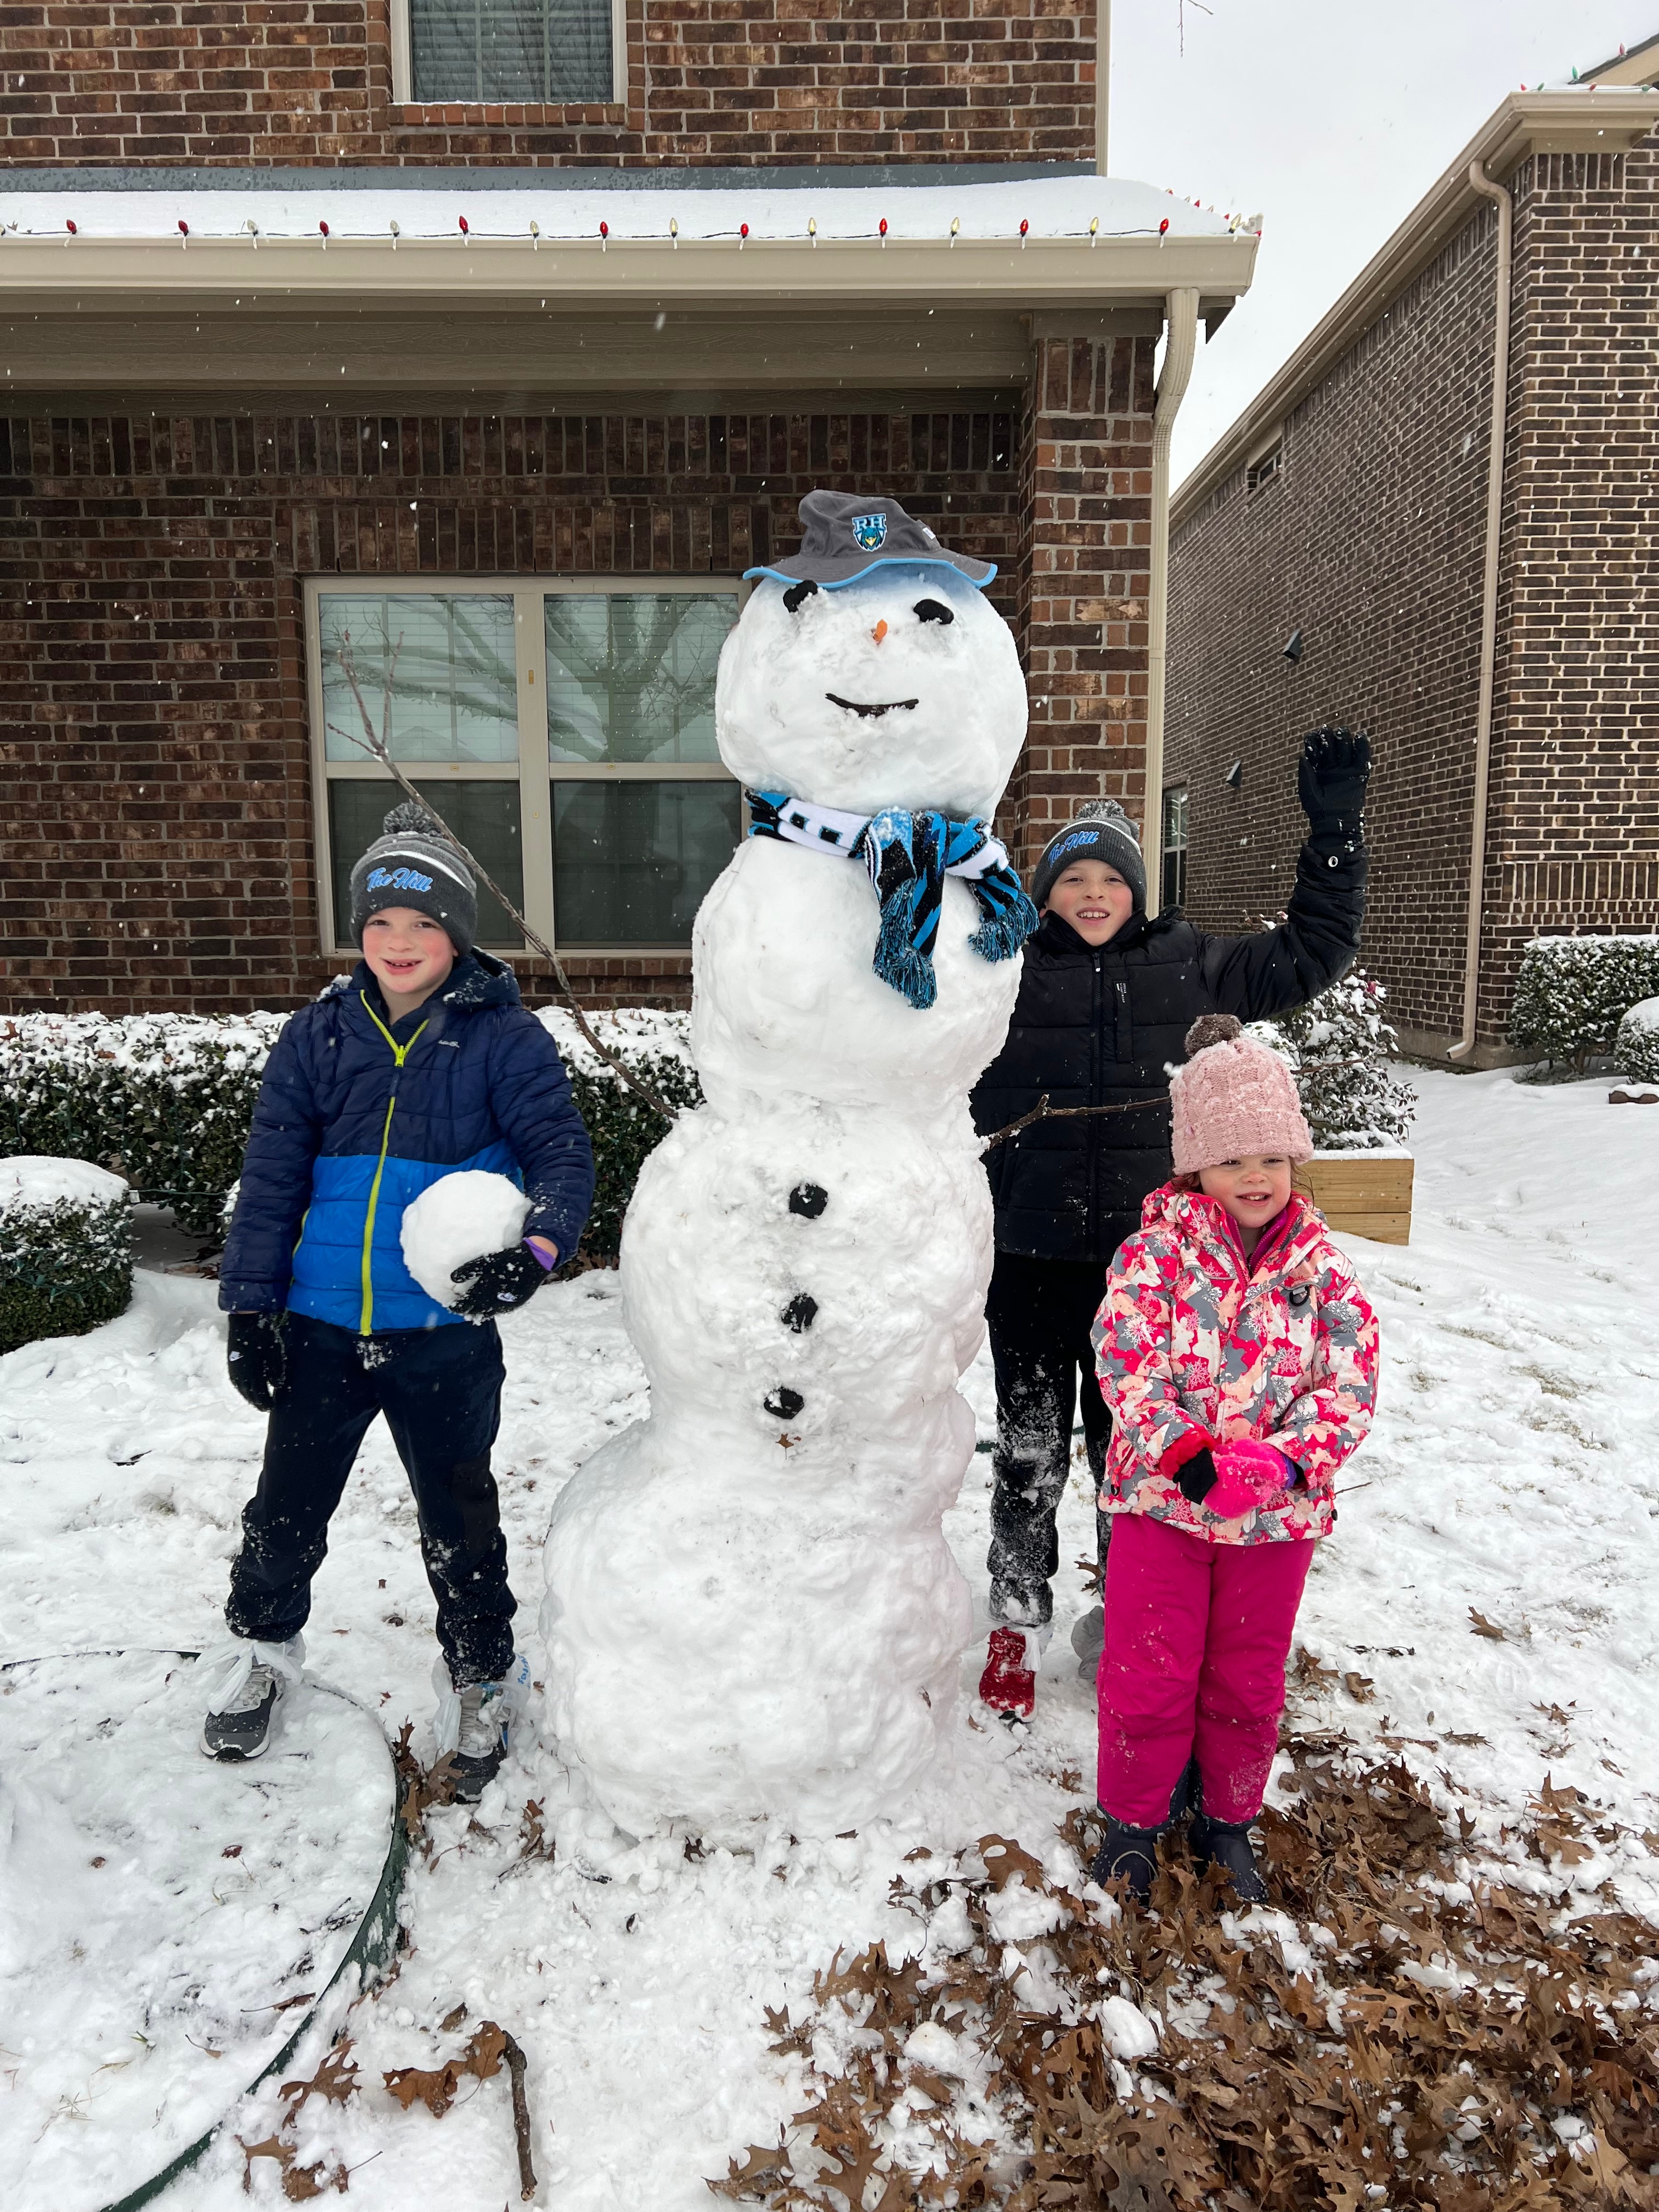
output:
[[[1659,1113],[1608,1106],[1606,1082],[1531,1088],[1502,1073],[1425,1073],[1416,1088],[1413,1241],[1347,1241],[1383,1314],[1383,1409],[1298,1626],[1332,1679],[1298,1688],[1292,1710],[1303,1725],[1398,1747],[1440,1796],[1469,1792],[1491,1856],[1520,1856],[1502,1829],[1546,1776],[1584,1790],[1617,1838],[1553,1874],[1553,1887],[1573,1880],[1588,1902],[1610,1880],[1659,1922],[1659,1860],[1641,1840],[1659,1827]],[[644,1383],[615,1276],[555,1285],[504,1336],[498,1471],[520,1621],[540,1663],[549,1506],[644,1411]],[[989,1433],[984,1360],[969,1391]],[[146,1274],[122,1321],[0,1360],[0,1657],[212,1641],[259,1442],[261,1420],[223,1380],[210,1283]],[[989,1460],[975,1458],[949,1520],[975,1593],[987,1478]],[[405,2112],[378,2086],[385,2068],[458,2055],[489,2017],[529,2055],[540,2201],[564,2212],[706,2205],[706,2177],[723,2174],[732,2150],[776,2141],[803,2101],[801,2062],[768,2055],[763,2008],[790,2004],[799,2020],[838,1947],[876,1936],[914,1947],[916,1922],[889,1905],[907,1851],[998,1832],[1075,1871],[1055,1823],[1093,1796],[1093,1697],[1066,1639],[1084,1601],[1071,1559],[1088,1542],[1079,1480],[1035,1725],[1006,1734],[975,1717],[978,1650],[967,1652],[951,1765],[894,1827],[823,1843],[772,1834],[752,1856],[699,1856],[684,1836],[635,1843],[575,1809],[535,1747],[509,1765],[478,1823],[436,1812],[434,1856],[405,1896],[411,1951],[347,2022],[367,2088],[305,2104],[301,2161],[343,2163],[365,2212],[515,2201],[504,2079],[467,2079],[442,2119],[418,2104]],[[319,1679],[378,1708],[389,1732],[414,1717],[420,1743],[431,1599],[380,1429],[334,1522],[307,1644]],[[520,1851],[531,1801],[555,1838],[551,1860]],[[458,2006],[467,2017],[445,2035]],[[310,2073],[321,2048],[319,2037],[294,2073]],[[232,2137],[268,2137],[281,2110],[268,2090],[237,2112],[164,2203],[217,2212],[241,2201]],[[133,2157],[137,2181],[142,2139]],[[252,2201],[283,2201],[270,2159],[254,2163]]]

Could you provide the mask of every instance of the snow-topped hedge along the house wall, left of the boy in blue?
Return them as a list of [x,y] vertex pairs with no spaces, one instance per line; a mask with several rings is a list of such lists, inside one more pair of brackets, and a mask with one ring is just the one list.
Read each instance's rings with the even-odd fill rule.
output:
[[215,1237],[288,1015],[0,1018],[0,1152],[91,1159]]

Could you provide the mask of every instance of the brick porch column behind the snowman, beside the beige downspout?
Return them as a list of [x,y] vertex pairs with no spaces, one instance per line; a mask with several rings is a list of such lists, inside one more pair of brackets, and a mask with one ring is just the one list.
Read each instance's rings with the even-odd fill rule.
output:
[[1146,807],[1155,347],[1099,330],[1035,338],[1018,617],[1031,734],[1004,810],[1022,869],[1079,801],[1117,799],[1137,821]]

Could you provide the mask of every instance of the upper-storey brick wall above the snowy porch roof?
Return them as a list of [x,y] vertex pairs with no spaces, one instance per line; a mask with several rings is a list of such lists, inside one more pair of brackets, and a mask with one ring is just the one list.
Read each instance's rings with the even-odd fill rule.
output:
[[15,164],[1093,161],[1095,0],[626,0],[628,97],[398,106],[389,0],[0,7]]

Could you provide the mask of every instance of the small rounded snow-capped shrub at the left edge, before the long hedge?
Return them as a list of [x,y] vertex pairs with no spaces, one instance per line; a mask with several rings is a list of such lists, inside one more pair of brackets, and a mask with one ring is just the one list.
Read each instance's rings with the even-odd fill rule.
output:
[[131,1203],[119,1175],[84,1159],[0,1159],[0,1352],[126,1312]]

